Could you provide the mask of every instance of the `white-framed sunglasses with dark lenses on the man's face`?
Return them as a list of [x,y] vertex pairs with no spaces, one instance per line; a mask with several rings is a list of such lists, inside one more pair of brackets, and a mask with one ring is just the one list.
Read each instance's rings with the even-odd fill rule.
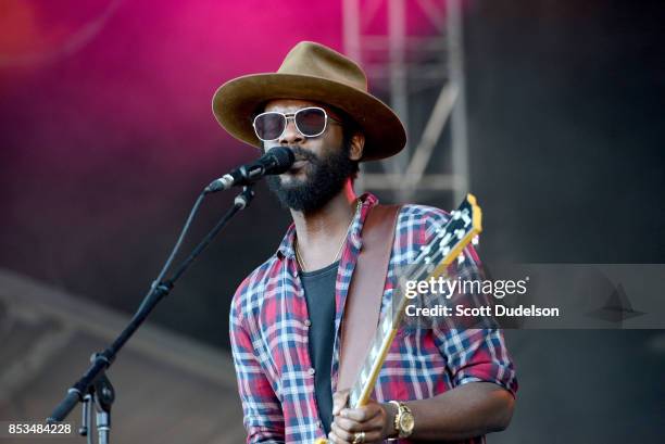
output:
[[284,114],[275,111],[268,111],[261,113],[254,117],[252,126],[256,137],[264,141],[269,142],[281,138],[289,118],[293,119],[296,129],[304,137],[317,137],[324,134],[328,119],[341,124],[332,117],[329,117],[323,107],[310,106],[298,110],[293,114]]

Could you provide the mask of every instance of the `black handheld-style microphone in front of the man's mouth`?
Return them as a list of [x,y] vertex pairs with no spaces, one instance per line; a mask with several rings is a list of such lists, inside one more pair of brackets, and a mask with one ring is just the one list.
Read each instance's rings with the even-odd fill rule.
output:
[[265,175],[278,175],[289,170],[296,162],[293,152],[286,147],[272,148],[267,153],[249,164],[241,165],[205,188],[206,193],[228,190],[231,187],[251,185]]

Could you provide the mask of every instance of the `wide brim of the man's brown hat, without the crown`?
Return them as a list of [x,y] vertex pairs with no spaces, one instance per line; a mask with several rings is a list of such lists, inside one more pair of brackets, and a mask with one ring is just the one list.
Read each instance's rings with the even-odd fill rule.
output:
[[322,102],[346,112],[365,135],[361,162],[394,155],[406,143],[404,126],[384,102],[360,89],[314,76],[266,73],[235,78],[215,92],[213,113],[236,139],[261,148],[252,119],[273,99]]

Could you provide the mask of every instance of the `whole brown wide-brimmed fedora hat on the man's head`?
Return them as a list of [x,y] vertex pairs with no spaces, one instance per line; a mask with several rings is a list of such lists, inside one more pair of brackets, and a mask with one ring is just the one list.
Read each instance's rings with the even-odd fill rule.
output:
[[365,134],[362,161],[397,154],[406,143],[399,117],[367,92],[367,77],[352,60],[323,45],[301,41],[277,73],[253,74],[222,85],[213,97],[215,118],[236,139],[261,148],[252,119],[273,99],[300,99],[346,112]]

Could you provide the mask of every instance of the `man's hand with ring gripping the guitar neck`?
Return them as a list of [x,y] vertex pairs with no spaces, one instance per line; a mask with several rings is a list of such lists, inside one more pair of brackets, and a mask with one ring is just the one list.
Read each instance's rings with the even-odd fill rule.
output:
[[394,432],[394,407],[369,399],[360,408],[348,408],[349,391],[332,395],[332,426],[328,440],[336,444],[352,444],[355,433],[365,432],[364,443],[380,443]]

